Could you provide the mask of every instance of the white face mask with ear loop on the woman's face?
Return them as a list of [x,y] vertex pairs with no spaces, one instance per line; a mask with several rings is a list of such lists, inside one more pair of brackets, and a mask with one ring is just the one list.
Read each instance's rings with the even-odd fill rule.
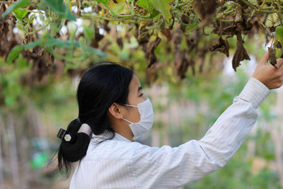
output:
[[151,129],[154,123],[154,109],[152,108],[152,104],[151,101],[149,101],[149,98],[147,98],[146,101],[139,103],[138,105],[125,105],[137,107],[139,114],[141,115],[141,120],[139,120],[139,122],[130,122],[129,120],[122,118],[123,120],[131,123],[129,124],[129,127],[132,130],[134,137],[139,137],[142,133]]

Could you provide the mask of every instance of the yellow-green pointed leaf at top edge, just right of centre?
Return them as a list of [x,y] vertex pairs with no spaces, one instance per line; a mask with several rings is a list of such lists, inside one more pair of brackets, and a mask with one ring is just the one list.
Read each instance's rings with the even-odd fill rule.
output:
[[154,6],[154,8],[161,12],[164,19],[169,22],[169,19],[171,18],[171,5],[169,4],[171,1],[173,0],[154,0],[151,1],[152,6]]

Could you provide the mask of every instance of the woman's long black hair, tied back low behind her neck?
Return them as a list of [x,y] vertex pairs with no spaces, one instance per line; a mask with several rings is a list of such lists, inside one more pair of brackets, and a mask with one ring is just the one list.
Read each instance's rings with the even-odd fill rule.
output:
[[115,136],[108,120],[107,111],[112,103],[125,104],[129,94],[129,83],[134,71],[115,62],[98,62],[81,77],[76,98],[79,104],[79,117],[72,120],[67,132],[75,137],[75,142],[62,142],[58,150],[56,169],[68,178],[72,162],[80,161],[86,156],[91,139],[88,134],[78,130],[83,123],[91,126],[93,134]]

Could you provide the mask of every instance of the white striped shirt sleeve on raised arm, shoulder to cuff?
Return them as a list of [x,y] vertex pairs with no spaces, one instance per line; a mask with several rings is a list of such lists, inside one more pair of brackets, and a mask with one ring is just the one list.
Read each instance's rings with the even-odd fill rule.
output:
[[223,167],[255,124],[256,109],[269,94],[267,86],[251,77],[202,139],[178,147],[137,144],[132,168],[139,188],[180,188]]

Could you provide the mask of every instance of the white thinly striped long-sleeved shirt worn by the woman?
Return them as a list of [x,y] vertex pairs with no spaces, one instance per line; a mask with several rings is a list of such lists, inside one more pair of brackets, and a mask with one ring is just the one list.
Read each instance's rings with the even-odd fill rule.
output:
[[235,154],[269,93],[267,86],[251,77],[202,139],[178,147],[149,147],[117,133],[114,139],[96,145],[103,136],[93,134],[70,188],[172,189],[197,181],[223,167]]

